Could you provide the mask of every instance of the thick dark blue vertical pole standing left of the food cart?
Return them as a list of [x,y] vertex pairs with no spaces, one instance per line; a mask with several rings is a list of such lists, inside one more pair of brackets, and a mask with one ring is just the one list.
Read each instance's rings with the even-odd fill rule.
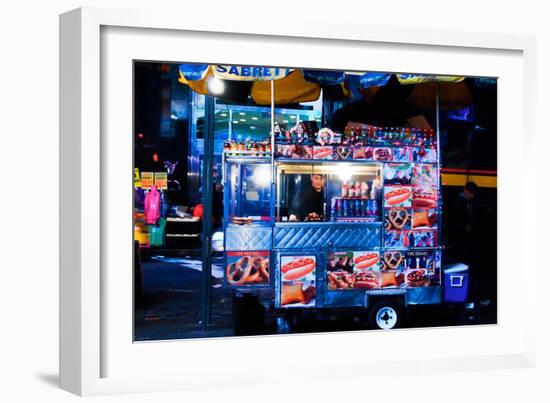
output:
[[202,278],[201,278],[201,325],[207,330],[212,319],[212,201],[214,165],[214,97],[207,95],[204,105],[204,159],[203,159],[203,215],[202,215]]

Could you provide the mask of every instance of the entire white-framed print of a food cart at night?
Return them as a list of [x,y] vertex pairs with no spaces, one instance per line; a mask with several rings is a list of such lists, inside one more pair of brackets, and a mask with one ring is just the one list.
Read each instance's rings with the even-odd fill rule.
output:
[[311,26],[61,16],[63,388],[530,365],[532,38]]

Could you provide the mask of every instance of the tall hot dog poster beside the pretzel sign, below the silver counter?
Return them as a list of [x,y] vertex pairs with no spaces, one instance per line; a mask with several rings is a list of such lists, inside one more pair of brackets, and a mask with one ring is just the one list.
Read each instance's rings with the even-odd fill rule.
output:
[[281,256],[281,305],[315,306],[315,256]]

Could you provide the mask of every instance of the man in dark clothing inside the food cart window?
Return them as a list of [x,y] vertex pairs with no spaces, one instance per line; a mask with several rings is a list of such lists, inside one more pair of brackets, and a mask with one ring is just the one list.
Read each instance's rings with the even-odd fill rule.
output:
[[319,221],[323,219],[325,178],[310,175],[311,186],[302,188],[296,194],[290,208],[289,221]]

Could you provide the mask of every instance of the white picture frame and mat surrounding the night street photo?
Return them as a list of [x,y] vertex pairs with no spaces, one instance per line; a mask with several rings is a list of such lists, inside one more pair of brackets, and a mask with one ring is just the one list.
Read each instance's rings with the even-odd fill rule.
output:
[[[139,50],[131,39],[137,35],[141,35]],[[208,46],[204,49],[198,46],[218,43],[220,38],[233,44],[228,46],[232,53],[224,53],[221,48],[214,52]],[[153,49],[155,43],[159,46]],[[170,45],[173,48],[174,43],[185,43],[186,47],[195,49],[193,56],[188,58],[182,50],[179,56],[170,56]],[[113,234],[121,231],[122,240],[125,240],[124,234],[131,232],[130,227],[125,227],[131,220],[130,210],[125,218],[116,214],[119,207],[124,211],[127,205],[112,207],[111,203],[114,197],[118,197],[116,192],[131,190],[129,179],[128,189],[121,190],[119,186],[125,183],[127,162],[132,153],[128,149],[129,143],[124,140],[124,133],[131,137],[131,132],[127,131],[131,91],[125,91],[127,79],[115,82],[107,77],[122,77],[120,74],[124,71],[131,76],[127,64],[131,59],[252,64],[251,57],[254,56],[256,64],[293,65],[289,56],[285,59],[267,50],[251,52],[252,56],[245,54],[242,51],[245,43],[258,49],[264,46],[277,49],[285,44],[291,49],[290,53],[294,52],[294,60],[300,57],[302,43],[318,46],[316,50],[330,48],[336,52],[347,46],[361,53],[366,46],[372,52],[387,52],[388,60],[393,60],[393,69],[390,69],[389,61],[376,58],[369,65],[373,70],[399,71],[395,70],[398,66],[395,59],[401,54],[407,58],[407,65],[403,65],[401,71],[457,75],[475,71],[480,73],[478,75],[499,76],[498,325],[405,329],[390,333],[341,332],[132,343],[128,337],[131,334],[128,325],[132,323],[131,312],[128,312],[131,298],[126,298],[131,288],[127,254],[131,255],[132,247],[128,244],[127,249],[120,249],[105,241],[113,240],[113,245],[116,245],[117,240],[113,239],[116,235]],[[534,148],[536,83],[533,37],[373,27],[334,21],[313,24],[306,20],[301,24],[281,25],[262,19],[243,24],[236,18],[185,19],[176,13],[163,11],[81,8],[61,15],[60,48],[60,384],[63,389],[79,395],[97,395],[227,386],[242,377],[242,371],[256,371],[261,383],[280,384],[291,379],[289,371],[283,370],[288,367],[307,368],[304,379],[328,380],[330,368],[360,373],[366,378],[381,369],[392,374],[405,374],[410,371],[435,373],[534,365],[536,329],[525,318],[535,315],[536,294],[525,287],[516,290],[516,296],[511,297],[509,291],[513,283],[509,270],[519,271],[523,278],[534,276],[536,258],[534,254],[526,253],[530,247],[527,224],[513,224],[511,227],[512,224],[506,224],[502,217],[513,210],[519,218],[517,222],[528,222],[521,218],[530,216],[532,210],[526,202],[514,206],[510,195],[515,194],[514,186],[528,189],[531,194],[536,192],[536,175],[521,176],[510,162],[500,158],[512,151],[524,166],[534,163],[529,159],[529,155],[534,155],[531,154]],[[432,54],[430,52],[439,52],[443,56],[437,61],[434,59],[432,66],[427,67],[417,59],[425,60]],[[463,56],[464,64],[457,64],[457,58]],[[214,57],[220,59],[213,60]],[[118,58],[124,62],[123,65],[117,64]],[[476,58],[480,62],[473,67]],[[356,67],[350,65],[352,63],[345,65],[341,58],[328,59],[321,66],[319,59],[308,67]],[[497,59],[502,62],[500,66],[483,63],[484,60],[494,62]],[[503,74],[490,74],[495,69],[502,69]],[[517,98],[503,97],[501,90],[508,95],[513,93]],[[120,105],[113,106],[118,100],[122,100]],[[105,109],[106,105],[113,108]],[[513,111],[514,116],[511,115]],[[114,128],[123,133],[120,139],[109,135]],[[510,148],[513,145],[508,137],[512,131],[521,133],[522,138],[515,148]],[[127,154],[118,154],[123,155],[120,164],[113,160],[115,150],[127,150]],[[519,197],[526,200],[527,196]],[[126,200],[124,193],[119,200]],[[506,229],[517,231],[518,235],[512,238]],[[502,251],[510,247],[524,258],[521,261],[503,260]],[[120,259],[117,261],[124,267],[119,273],[107,270],[113,259]],[[124,281],[128,281],[127,287]],[[118,292],[120,285],[126,288],[120,290],[121,298],[115,301],[112,293],[113,290]],[[522,320],[514,319],[518,316],[518,307],[511,298],[521,298],[523,307],[533,309],[526,309]],[[296,356],[307,348],[319,351],[326,343],[362,343],[366,337],[373,343],[386,340],[392,344],[422,338],[441,347],[429,354],[401,353],[388,357],[357,354],[352,359],[329,359],[319,355],[307,364],[281,359],[284,351],[289,352],[289,356]],[[445,348],[441,340],[458,343],[463,340],[465,345]],[[474,341],[476,345],[470,343]],[[451,345],[450,342],[447,344]],[[252,346],[257,351],[268,350],[269,354],[239,357],[232,353],[236,347],[242,346]],[[241,371],[238,377],[231,375],[237,372],[234,368]]]

